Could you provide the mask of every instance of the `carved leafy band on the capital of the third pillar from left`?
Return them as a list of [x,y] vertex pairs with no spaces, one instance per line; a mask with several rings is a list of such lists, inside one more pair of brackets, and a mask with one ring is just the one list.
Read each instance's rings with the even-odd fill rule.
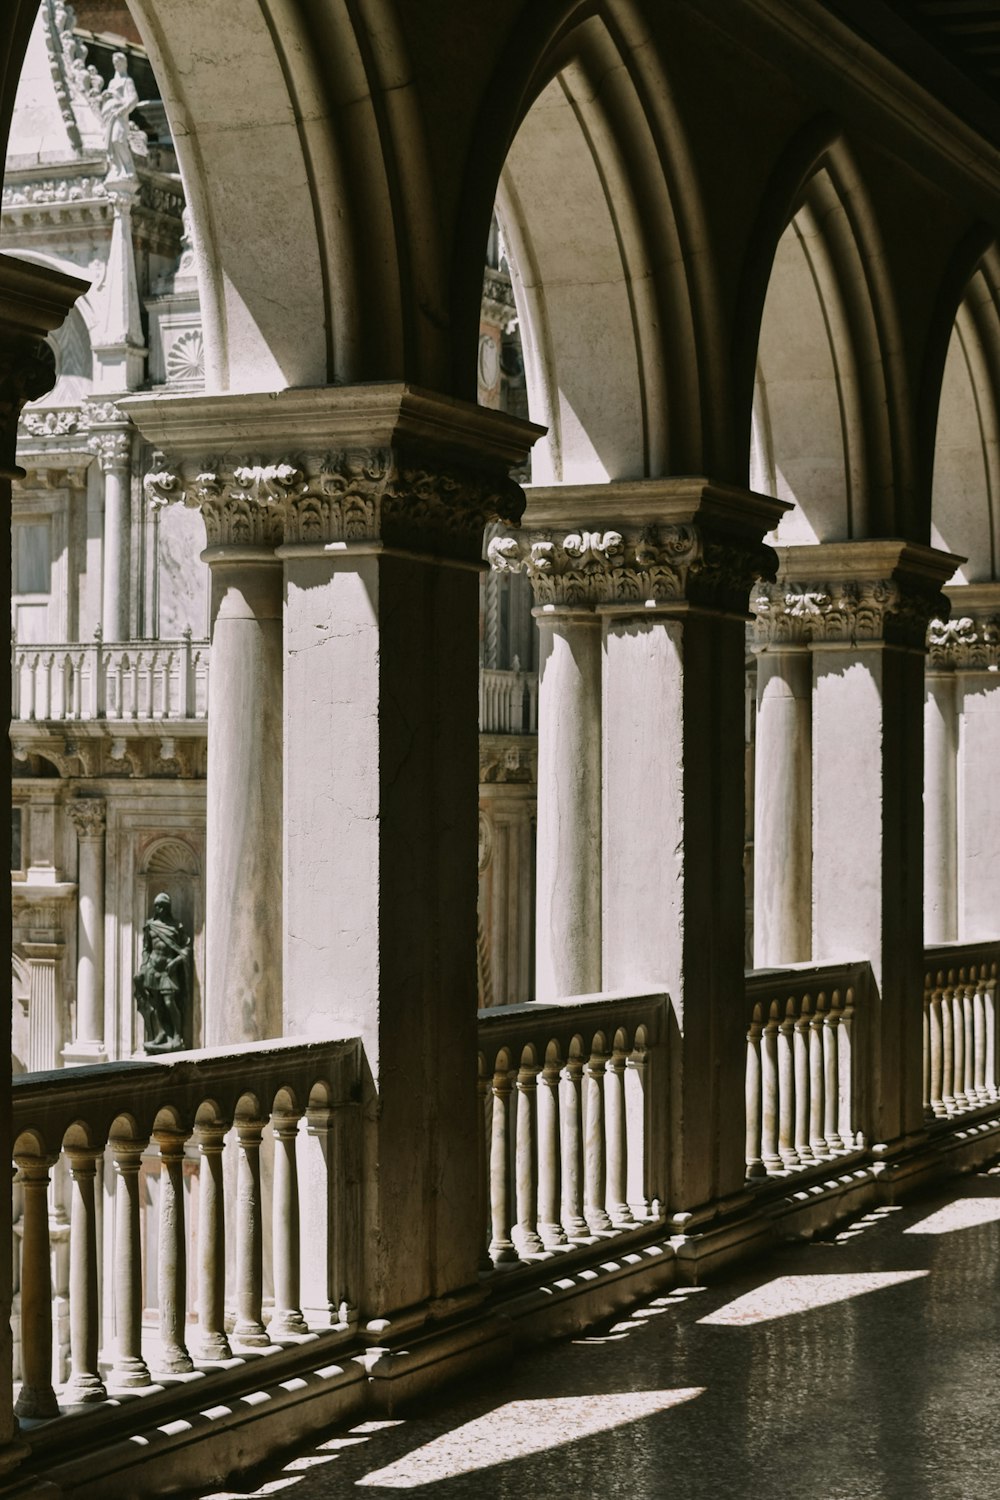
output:
[[942,608],[942,596],[895,579],[783,582],[762,584],[750,608],[759,650],[823,640],[922,646],[928,622]]

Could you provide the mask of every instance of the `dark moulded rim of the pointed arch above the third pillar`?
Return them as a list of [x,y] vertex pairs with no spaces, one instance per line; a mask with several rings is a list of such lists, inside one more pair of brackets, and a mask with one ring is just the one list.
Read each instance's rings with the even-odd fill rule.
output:
[[[840,324],[856,400],[844,408],[847,474],[856,537],[913,534],[915,459],[909,382],[877,218],[840,123],[823,116],[789,144],[751,231],[733,336],[735,410],[745,471],[754,376],[775,252],[801,210],[816,226],[829,273],[825,315]],[[831,297],[835,300],[831,306]],[[832,327],[831,333],[837,338]]]

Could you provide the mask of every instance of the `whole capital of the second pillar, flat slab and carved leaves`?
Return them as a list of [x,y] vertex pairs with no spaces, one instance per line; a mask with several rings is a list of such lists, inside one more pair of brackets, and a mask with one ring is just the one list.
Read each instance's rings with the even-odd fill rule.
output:
[[523,570],[543,608],[745,614],[753,579],[774,576],[762,532],[786,508],[703,478],[532,488],[525,530],[495,537],[487,556],[498,572]]

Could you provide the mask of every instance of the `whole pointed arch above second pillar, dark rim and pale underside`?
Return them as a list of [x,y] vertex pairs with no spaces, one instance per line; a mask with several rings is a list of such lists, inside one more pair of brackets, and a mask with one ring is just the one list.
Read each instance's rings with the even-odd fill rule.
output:
[[511,38],[469,153],[454,388],[475,392],[496,201],[531,414],[550,429],[535,476],[538,464],[555,482],[703,472],[724,446],[720,303],[669,82],[627,0],[577,6],[547,32],[543,20]]

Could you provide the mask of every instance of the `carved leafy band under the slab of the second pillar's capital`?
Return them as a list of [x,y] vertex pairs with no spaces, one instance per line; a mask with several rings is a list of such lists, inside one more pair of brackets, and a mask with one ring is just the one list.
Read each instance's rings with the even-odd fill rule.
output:
[[754,576],[774,554],[697,525],[499,536],[487,548],[498,573],[525,572],[538,604],[669,604],[679,600],[745,612]]

